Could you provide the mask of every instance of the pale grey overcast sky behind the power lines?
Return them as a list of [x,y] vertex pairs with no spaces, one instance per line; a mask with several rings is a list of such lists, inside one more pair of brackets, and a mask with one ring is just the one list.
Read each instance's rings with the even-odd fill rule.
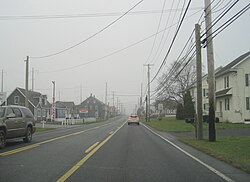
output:
[[[139,1],[0,0],[0,69],[4,70],[4,91],[10,94],[16,87],[25,88],[26,56],[46,56],[71,47],[102,30]],[[143,65],[154,63],[151,77],[156,74],[173,39],[183,2],[185,1],[167,0],[161,18],[164,0],[144,0],[131,11],[131,14],[125,15],[81,45],[55,56],[43,59],[31,58],[30,70],[32,68],[35,70],[35,90],[47,94],[51,101],[51,81],[55,80],[56,99],[59,100],[60,96],[61,101],[74,101],[75,104],[79,104],[81,86],[83,100],[92,93],[104,101],[107,82],[110,105],[113,102],[112,92],[114,92],[115,101],[119,97],[119,102],[132,112],[138,103],[141,83],[143,90],[146,87],[147,70]],[[214,11],[212,17],[218,16],[228,2],[231,1],[215,0],[212,4]],[[187,3],[188,1],[185,7]],[[248,3],[249,0],[240,0],[214,29]],[[172,11],[170,11],[171,6]],[[159,76],[166,70],[166,66],[177,59],[195,23],[201,17],[203,8],[204,1],[192,1],[167,63]],[[162,31],[157,37],[152,36],[157,30],[161,31],[166,27],[167,20],[169,20],[167,27],[171,28],[166,29],[165,33]],[[250,50],[249,22],[250,11],[214,39],[216,67],[225,66]],[[162,35],[164,35],[163,41],[159,46]],[[150,36],[151,38],[148,38]],[[166,43],[163,44],[166,37]],[[145,38],[148,39],[118,51]],[[153,59],[158,47],[162,51],[158,51],[159,55],[156,56],[158,59]],[[206,49],[202,50],[204,64],[206,64],[205,51]],[[31,88],[31,82],[29,85]],[[152,83],[152,90],[156,85],[157,80]]]

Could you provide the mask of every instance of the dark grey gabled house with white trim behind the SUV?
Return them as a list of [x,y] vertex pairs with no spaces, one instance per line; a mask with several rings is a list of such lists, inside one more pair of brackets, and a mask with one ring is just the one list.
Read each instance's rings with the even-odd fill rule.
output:
[[[28,91],[29,109],[34,114],[37,121],[46,120],[50,118],[51,104],[47,100],[47,96],[39,92]],[[16,88],[8,97],[7,105],[25,106],[25,89]],[[5,102],[2,103],[5,105]]]

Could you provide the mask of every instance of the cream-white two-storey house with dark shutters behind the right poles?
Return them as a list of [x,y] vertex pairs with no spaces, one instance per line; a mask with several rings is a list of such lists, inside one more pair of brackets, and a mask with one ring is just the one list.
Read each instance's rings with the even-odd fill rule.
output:
[[[196,103],[196,85],[190,93]],[[207,76],[202,80],[203,114],[208,114]],[[250,52],[247,52],[215,73],[216,117],[222,122],[250,121]]]

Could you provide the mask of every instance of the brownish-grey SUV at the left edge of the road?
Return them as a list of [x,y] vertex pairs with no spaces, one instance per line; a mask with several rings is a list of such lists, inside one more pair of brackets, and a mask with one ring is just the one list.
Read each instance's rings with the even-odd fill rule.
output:
[[32,112],[23,106],[0,107],[0,149],[6,145],[6,139],[23,138],[31,142],[36,131]]

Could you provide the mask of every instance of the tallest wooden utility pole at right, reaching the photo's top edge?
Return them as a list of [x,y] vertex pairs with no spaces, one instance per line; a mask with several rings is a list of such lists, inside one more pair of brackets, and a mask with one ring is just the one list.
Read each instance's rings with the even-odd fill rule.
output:
[[206,23],[206,43],[208,62],[208,98],[209,98],[209,141],[216,141],[215,131],[215,74],[214,74],[214,53],[212,38],[212,15],[211,1],[205,0],[205,23]]

